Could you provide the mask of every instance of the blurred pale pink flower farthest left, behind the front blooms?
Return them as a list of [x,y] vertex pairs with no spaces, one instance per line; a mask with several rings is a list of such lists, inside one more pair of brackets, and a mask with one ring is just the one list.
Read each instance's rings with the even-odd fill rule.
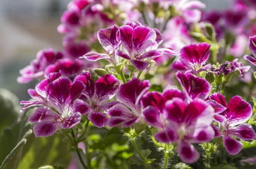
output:
[[[19,83],[28,83],[33,79],[41,79],[44,77],[44,69],[56,60],[61,59],[63,54],[60,51],[55,51],[53,48],[44,49],[38,52],[36,59],[30,62],[30,65],[20,70],[20,75],[17,78]],[[49,75],[49,74],[48,74]]]

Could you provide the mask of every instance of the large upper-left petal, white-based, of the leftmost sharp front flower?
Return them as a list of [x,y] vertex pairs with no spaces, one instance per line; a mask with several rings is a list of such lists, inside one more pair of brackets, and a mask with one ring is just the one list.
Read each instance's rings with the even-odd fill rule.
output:
[[69,78],[59,77],[49,83],[46,88],[47,100],[52,106],[64,116],[67,115],[70,108],[70,90],[72,82]]

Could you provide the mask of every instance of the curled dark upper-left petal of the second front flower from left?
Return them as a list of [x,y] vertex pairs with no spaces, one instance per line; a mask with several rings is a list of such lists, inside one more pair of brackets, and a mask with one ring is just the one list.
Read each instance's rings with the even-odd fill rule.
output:
[[95,83],[90,76],[90,72],[84,72],[76,76],[74,82],[76,81],[81,81],[86,86],[82,94],[86,96],[88,99],[92,98],[95,90]]

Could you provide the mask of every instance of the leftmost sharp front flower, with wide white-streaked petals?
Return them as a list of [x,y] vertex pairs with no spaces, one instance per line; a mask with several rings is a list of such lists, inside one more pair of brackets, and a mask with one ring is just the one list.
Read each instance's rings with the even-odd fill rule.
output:
[[47,101],[58,113],[49,107],[38,107],[28,121],[36,123],[33,127],[35,137],[53,135],[59,127],[67,129],[75,126],[81,120],[79,112],[71,113],[71,105],[81,96],[85,86],[82,82],[74,82],[68,78],[59,77],[46,87]]

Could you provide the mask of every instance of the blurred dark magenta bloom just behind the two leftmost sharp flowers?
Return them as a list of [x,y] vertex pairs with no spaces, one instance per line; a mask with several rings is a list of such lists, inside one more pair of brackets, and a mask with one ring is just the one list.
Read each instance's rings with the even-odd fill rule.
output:
[[82,72],[84,64],[80,59],[64,58],[59,59],[54,65],[49,65],[44,70],[44,77],[52,72],[61,72],[63,77],[75,77]]

